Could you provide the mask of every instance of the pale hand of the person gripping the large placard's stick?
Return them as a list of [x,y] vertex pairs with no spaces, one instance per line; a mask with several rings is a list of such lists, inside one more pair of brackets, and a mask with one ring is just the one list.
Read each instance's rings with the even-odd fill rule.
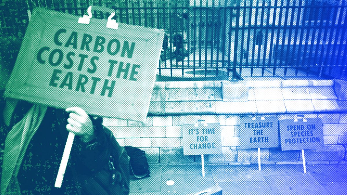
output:
[[83,142],[90,142],[95,138],[92,121],[82,108],[71,107],[65,111],[70,112],[67,119],[68,124],[66,125],[69,132],[80,136]]

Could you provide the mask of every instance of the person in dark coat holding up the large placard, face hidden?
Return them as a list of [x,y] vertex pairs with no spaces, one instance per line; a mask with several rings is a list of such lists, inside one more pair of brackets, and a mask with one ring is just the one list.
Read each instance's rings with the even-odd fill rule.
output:
[[[129,160],[102,118],[3,98],[12,68],[1,64],[1,194],[128,194]],[[54,187],[68,133],[75,139],[64,182]]]

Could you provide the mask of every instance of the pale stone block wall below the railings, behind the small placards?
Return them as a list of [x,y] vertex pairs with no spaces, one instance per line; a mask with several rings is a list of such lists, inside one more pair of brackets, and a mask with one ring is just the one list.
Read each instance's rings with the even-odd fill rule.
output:
[[[281,120],[301,114],[306,118],[320,117],[323,121],[324,147],[305,150],[307,163],[346,162],[347,114],[345,104],[341,104],[346,100],[335,92],[334,81],[247,83],[232,84],[230,88],[228,83],[216,81],[157,82],[146,122],[104,118],[103,124],[120,145],[146,151],[152,164],[187,164],[201,163],[201,157],[183,155],[181,125],[199,119],[218,122],[223,153],[205,155],[205,162],[251,164],[257,163],[257,149],[239,149],[240,116],[258,114]],[[266,99],[269,98],[266,93],[271,94],[270,100]],[[270,164],[302,163],[301,152],[280,148],[261,149],[261,159],[262,163]]]

